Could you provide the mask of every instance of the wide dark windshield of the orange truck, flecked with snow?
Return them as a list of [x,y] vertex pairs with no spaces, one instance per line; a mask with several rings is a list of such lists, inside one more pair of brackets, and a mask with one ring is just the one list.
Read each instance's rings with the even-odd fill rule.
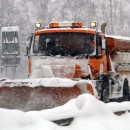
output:
[[49,33],[35,35],[34,53],[43,55],[76,56],[94,53],[93,34],[84,33]]

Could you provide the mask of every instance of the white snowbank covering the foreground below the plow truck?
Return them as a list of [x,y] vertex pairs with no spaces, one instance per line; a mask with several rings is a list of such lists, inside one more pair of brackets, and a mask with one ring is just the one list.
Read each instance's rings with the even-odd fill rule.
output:
[[[118,106],[118,107],[117,107]],[[116,109],[130,109],[130,103],[98,101],[89,94],[80,95],[63,106],[22,112],[0,109],[0,130],[130,130],[130,114],[116,116]],[[59,126],[52,120],[74,117],[69,126]]]

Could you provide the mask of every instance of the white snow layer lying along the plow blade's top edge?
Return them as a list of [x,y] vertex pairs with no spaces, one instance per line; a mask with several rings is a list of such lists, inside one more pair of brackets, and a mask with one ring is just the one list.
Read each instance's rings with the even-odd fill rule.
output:
[[17,79],[17,80],[6,80],[0,82],[0,86],[28,86],[28,87],[73,87],[77,84],[77,81],[73,81],[67,78],[39,78],[39,79]]

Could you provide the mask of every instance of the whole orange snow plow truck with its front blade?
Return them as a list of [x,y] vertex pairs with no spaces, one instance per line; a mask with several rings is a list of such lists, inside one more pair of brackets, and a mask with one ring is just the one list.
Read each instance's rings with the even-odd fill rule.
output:
[[0,81],[0,107],[42,110],[82,93],[129,100],[130,39],[105,35],[104,25],[36,23],[27,40],[29,79]]

